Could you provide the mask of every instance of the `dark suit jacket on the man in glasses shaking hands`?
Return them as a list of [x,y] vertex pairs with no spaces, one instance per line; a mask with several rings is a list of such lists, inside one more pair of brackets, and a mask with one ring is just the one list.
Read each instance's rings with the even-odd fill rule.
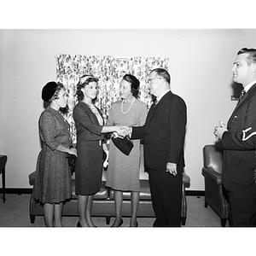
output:
[[183,99],[172,91],[149,109],[146,123],[132,127],[132,139],[144,139],[145,165],[165,171],[166,163],[184,166],[183,143],[187,123],[187,107]]

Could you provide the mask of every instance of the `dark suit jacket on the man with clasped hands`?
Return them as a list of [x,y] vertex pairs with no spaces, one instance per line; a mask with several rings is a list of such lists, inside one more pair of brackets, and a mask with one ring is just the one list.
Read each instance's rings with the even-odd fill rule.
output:
[[256,182],[256,84],[247,91],[231,114],[224,147],[223,184],[240,193]]

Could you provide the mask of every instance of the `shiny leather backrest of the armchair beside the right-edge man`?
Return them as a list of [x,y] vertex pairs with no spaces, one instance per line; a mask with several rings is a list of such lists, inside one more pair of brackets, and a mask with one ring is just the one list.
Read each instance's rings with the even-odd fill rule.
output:
[[222,173],[223,147],[221,145],[206,145],[203,148],[204,167],[212,168],[215,172]]

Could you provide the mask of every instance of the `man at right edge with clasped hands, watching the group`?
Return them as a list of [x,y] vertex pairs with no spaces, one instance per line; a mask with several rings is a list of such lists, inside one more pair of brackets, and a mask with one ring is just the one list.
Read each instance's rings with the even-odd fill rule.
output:
[[222,181],[230,201],[230,224],[256,226],[256,49],[241,49],[232,73],[244,96],[228,125],[220,121],[214,134],[224,147]]

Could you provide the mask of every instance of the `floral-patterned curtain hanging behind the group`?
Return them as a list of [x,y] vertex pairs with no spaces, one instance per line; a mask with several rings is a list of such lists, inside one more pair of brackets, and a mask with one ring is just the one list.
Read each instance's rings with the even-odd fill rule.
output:
[[152,97],[148,93],[146,79],[148,73],[162,67],[168,70],[166,57],[113,57],[109,55],[56,55],[56,80],[64,84],[68,95],[67,121],[71,126],[73,143],[76,143],[76,131],[73,121],[73,108],[77,104],[76,85],[84,74],[99,79],[99,93],[96,106],[101,109],[103,118],[108,119],[108,112],[113,102],[119,100],[119,83],[125,73],[131,73],[140,81],[139,98],[150,108]]

